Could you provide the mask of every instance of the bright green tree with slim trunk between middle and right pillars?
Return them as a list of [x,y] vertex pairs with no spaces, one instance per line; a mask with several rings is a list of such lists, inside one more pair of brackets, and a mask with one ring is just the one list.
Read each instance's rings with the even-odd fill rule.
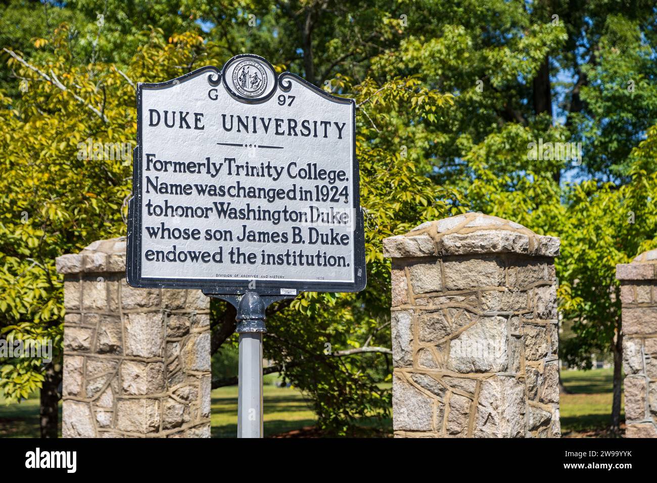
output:
[[478,210],[560,237],[559,309],[576,334],[562,344],[560,356],[590,369],[592,352],[613,354],[611,428],[618,431],[623,333],[616,264],[629,263],[657,244],[657,175],[650,168],[657,154],[657,126],[648,129],[647,139],[630,154],[630,181],[625,185],[589,179],[559,189],[549,167],[499,176],[489,166],[520,156],[532,134],[522,129],[514,136],[515,143],[509,144],[509,134],[491,135],[472,151],[468,162],[476,179],[467,198]]

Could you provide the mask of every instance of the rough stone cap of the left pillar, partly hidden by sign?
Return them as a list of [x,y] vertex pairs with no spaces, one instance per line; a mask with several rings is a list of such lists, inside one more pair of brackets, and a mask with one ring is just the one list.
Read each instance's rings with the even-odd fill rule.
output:
[[97,240],[76,254],[55,259],[58,273],[120,273],[125,271],[125,237]]

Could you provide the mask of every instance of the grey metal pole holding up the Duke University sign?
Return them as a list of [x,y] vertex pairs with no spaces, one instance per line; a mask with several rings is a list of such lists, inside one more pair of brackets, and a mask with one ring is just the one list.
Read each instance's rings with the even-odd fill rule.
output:
[[262,334],[265,303],[256,292],[246,292],[237,305],[240,334],[237,437],[262,438]]

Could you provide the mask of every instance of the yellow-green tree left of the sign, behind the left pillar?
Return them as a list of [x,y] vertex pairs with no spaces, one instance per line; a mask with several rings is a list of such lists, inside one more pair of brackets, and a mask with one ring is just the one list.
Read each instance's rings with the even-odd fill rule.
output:
[[57,34],[56,57],[45,66],[11,52],[9,65],[28,89],[3,97],[0,108],[0,333],[55,346],[50,363],[3,361],[0,388],[10,401],[41,388],[41,435],[49,437],[57,436],[64,321],[55,258],[124,232],[130,193],[129,160],[85,159],[78,143],[130,143],[135,134],[133,87],[112,66],[72,66],[66,28]]

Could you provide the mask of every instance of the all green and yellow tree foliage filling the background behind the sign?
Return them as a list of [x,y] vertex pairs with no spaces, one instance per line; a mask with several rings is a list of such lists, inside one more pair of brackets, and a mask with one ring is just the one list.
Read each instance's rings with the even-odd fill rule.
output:
[[[650,1],[11,0],[1,9],[5,338],[46,336],[59,349],[55,258],[125,234],[129,158],[85,158],[78,143],[134,142],[137,82],[250,51],[357,103],[368,287],[279,304],[265,342],[327,434],[390,415],[382,239],[429,219],[477,210],[559,236],[560,309],[577,335],[562,356],[586,365],[591,350],[618,342],[614,266],[654,246],[656,229]],[[539,140],[581,142],[581,166],[533,158]],[[230,310],[214,305],[215,348],[235,344]],[[3,361],[0,388],[24,398],[44,369]]]

